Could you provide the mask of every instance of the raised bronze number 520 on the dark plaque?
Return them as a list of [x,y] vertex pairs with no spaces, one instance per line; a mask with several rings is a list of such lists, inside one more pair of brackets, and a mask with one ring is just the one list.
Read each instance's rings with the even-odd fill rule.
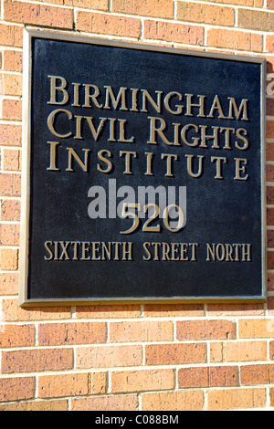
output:
[[[144,222],[142,225],[142,231],[145,233],[160,233],[160,225],[151,225],[154,221],[156,221],[159,218],[160,214],[160,208],[157,204],[145,204],[143,207],[143,212],[146,213],[149,209],[149,207],[154,208],[153,214]],[[172,208],[175,208],[178,211],[178,223],[175,228],[172,228],[169,224],[169,213]],[[138,226],[140,225],[140,218],[136,213],[129,212],[129,209],[136,209],[137,212],[141,211],[141,204],[135,204],[135,203],[124,203],[122,206],[122,212],[121,217],[127,218],[132,217],[133,224],[130,229],[127,229],[126,231],[121,231],[121,234],[132,234]],[[184,212],[182,208],[177,204],[170,204],[165,207],[163,210],[163,225],[165,228],[172,232],[177,233],[183,228],[184,225]]]

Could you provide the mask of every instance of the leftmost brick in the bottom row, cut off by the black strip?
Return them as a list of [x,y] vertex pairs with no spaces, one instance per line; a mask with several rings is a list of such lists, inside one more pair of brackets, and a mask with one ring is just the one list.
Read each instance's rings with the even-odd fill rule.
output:
[[1,403],[0,411],[68,411],[68,401],[27,401],[24,403]]

